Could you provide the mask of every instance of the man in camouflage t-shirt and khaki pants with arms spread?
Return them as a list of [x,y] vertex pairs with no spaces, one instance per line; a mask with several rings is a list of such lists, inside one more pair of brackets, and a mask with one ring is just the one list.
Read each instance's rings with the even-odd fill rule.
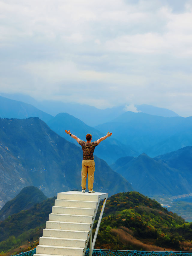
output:
[[95,147],[99,145],[101,141],[104,139],[107,139],[107,137],[110,137],[112,133],[107,133],[106,136],[101,137],[97,141],[91,142],[92,136],[91,134],[86,135],[86,142],[80,140],[77,138],[77,136],[73,135],[70,130],[65,130],[67,134],[69,134],[73,139],[76,139],[76,141],[81,145],[82,151],[83,151],[83,160],[82,160],[82,169],[81,169],[81,186],[82,191],[85,192],[86,190],[86,178],[88,175],[88,190],[89,193],[94,193],[93,191],[93,180],[94,180],[94,172],[95,172],[95,161],[93,158],[93,152],[95,150]]

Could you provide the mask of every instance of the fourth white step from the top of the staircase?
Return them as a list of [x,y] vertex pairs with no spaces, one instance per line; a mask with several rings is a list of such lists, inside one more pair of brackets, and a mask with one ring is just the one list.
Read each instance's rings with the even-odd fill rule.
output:
[[93,216],[89,215],[70,215],[70,214],[58,214],[50,213],[49,221],[69,221],[69,222],[83,222],[83,223],[92,223]]

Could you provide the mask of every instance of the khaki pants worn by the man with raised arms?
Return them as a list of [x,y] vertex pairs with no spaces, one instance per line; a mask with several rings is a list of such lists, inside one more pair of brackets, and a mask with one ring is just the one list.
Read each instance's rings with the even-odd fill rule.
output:
[[82,189],[86,189],[86,178],[88,175],[88,190],[93,190],[93,180],[95,172],[95,161],[94,160],[82,160],[81,169],[81,186]]

